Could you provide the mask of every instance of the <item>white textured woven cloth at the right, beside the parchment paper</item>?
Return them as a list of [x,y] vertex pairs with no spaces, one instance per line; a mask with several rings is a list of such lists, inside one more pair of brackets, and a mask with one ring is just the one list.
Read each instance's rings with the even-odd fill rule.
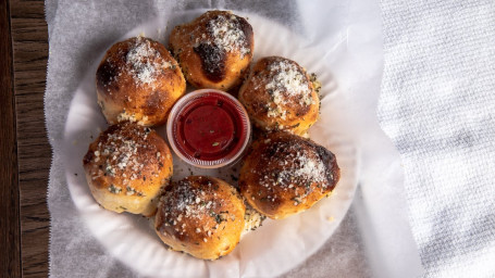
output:
[[495,2],[381,2],[379,118],[426,277],[495,277]]

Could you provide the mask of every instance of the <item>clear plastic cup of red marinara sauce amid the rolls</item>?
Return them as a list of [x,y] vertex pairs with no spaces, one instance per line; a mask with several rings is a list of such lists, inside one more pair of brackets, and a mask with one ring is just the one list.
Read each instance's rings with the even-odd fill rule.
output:
[[184,96],[172,109],[166,124],[174,152],[187,163],[205,168],[235,162],[246,149],[250,132],[243,104],[214,89]]

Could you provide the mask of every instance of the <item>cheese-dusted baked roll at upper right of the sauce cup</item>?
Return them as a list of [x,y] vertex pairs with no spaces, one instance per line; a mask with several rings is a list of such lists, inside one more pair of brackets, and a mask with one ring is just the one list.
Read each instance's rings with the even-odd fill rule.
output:
[[263,130],[304,135],[319,115],[320,99],[305,68],[281,56],[259,60],[238,98]]

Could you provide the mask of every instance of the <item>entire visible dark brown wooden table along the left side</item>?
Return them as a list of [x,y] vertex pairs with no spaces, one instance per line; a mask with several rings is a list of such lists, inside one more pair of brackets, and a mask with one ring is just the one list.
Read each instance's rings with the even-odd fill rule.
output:
[[44,4],[0,0],[0,277],[48,276]]

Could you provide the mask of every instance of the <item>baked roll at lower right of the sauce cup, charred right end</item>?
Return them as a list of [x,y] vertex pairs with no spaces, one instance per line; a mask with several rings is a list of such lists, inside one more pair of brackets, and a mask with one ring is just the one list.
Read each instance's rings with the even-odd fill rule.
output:
[[255,210],[285,218],[330,195],[339,173],[335,155],[325,148],[288,132],[271,132],[251,146],[239,188]]

